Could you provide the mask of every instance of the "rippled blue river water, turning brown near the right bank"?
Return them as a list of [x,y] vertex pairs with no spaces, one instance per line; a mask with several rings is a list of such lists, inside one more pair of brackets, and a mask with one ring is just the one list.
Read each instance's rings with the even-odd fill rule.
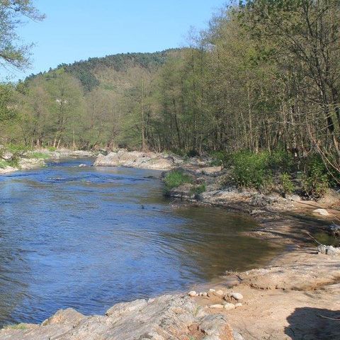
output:
[[103,314],[116,302],[260,266],[266,242],[220,208],[162,196],[160,171],[52,162],[0,177],[0,324],[42,322],[60,308]]

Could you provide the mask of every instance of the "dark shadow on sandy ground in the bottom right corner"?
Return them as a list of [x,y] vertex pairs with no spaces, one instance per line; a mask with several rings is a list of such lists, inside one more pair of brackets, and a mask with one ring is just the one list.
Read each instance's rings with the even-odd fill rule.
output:
[[296,308],[287,318],[285,334],[293,340],[339,340],[340,311]]

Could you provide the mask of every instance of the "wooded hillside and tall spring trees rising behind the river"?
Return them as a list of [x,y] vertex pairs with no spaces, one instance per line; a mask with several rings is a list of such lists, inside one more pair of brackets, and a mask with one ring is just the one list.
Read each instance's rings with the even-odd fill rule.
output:
[[30,146],[317,152],[339,170],[339,21],[337,0],[223,8],[191,47],[4,85],[1,135]]

